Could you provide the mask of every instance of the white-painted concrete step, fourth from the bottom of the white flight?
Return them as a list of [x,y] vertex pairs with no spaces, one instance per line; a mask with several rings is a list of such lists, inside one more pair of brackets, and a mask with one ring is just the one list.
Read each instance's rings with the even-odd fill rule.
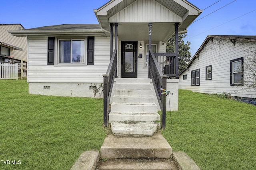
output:
[[154,104],[154,96],[113,96],[113,103],[152,103]]

